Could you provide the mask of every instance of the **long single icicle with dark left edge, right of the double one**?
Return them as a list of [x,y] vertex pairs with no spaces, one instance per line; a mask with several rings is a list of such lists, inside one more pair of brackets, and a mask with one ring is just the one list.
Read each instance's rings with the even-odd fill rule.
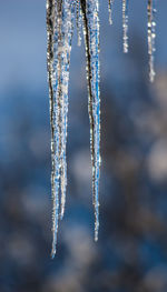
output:
[[99,18],[98,0],[81,0],[84,36],[87,57],[89,91],[90,151],[92,163],[92,202],[95,205],[95,240],[99,229],[99,175],[100,175],[100,97],[99,97]]

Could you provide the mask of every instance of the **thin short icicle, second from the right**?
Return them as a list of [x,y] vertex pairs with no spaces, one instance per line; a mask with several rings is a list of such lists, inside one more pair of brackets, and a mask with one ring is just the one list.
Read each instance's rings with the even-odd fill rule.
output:
[[128,52],[128,1],[122,0],[122,43],[124,43],[124,52]]

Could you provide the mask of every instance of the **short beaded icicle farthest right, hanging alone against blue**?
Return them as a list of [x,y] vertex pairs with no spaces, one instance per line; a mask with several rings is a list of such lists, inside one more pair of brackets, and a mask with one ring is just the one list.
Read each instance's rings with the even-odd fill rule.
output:
[[149,80],[154,82],[155,80],[155,38],[156,38],[156,0],[148,0],[147,13],[148,13],[148,54],[149,54]]

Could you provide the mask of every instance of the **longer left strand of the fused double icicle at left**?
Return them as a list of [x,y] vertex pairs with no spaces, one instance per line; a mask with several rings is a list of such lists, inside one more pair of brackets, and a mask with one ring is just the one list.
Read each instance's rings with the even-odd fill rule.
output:
[[[58,88],[58,79],[56,77],[57,70],[55,66],[58,63],[58,59],[55,58],[55,46],[58,41],[55,41],[56,19],[58,19],[58,3],[55,0],[47,0],[47,31],[48,31],[48,80],[49,80],[49,94],[50,94],[50,124],[51,124],[51,193],[53,201],[53,211],[52,211],[52,251],[51,255],[56,253],[53,245],[57,242],[57,232],[58,232],[58,210],[59,210],[59,124],[58,124],[58,111],[56,112],[55,102],[56,94],[55,91]],[[59,33],[58,33],[59,34]],[[57,36],[58,39],[58,36]],[[58,46],[57,46],[58,47]],[[55,62],[57,62],[55,64]]]

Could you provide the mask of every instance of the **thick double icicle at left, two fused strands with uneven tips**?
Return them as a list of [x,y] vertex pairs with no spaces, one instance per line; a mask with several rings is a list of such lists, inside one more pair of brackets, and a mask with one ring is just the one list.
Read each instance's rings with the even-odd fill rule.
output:
[[61,191],[61,213],[63,217],[67,185],[67,112],[69,62],[72,39],[72,20],[75,16],[73,1],[47,0],[48,31],[48,81],[50,93],[51,123],[51,188],[52,188],[52,250],[56,254],[58,221],[59,221],[59,187]]

